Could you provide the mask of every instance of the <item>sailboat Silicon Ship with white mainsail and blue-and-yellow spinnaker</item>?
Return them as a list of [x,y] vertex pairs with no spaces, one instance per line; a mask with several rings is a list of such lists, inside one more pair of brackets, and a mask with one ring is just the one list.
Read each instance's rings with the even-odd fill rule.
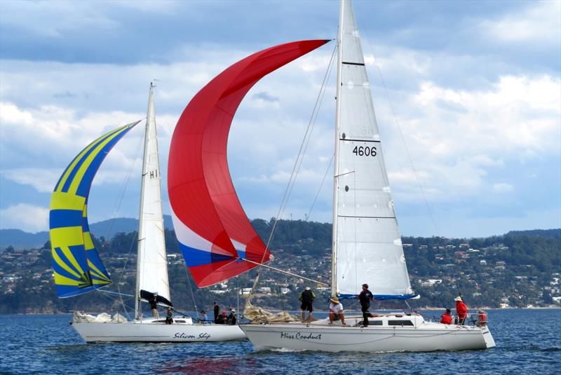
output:
[[[174,318],[173,324],[166,325],[164,317],[147,318],[142,315],[142,301],[146,302],[154,295],[157,296],[159,306],[173,306],[170,302],[165,254],[153,90],[154,86],[151,84],[142,162],[135,318],[128,321],[119,314],[111,318],[107,313],[93,316],[74,312],[72,327],[86,342],[208,342],[245,339],[245,334],[237,325],[194,322],[188,317]],[[82,294],[111,283],[109,273],[105,271],[91,242],[86,203],[91,180],[104,156],[134,125],[136,123],[113,130],[86,147],[65,170],[55,187],[51,201],[50,238],[55,282],[61,298]],[[77,190],[72,191],[72,186],[78,186]],[[71,222],[72,220],[78,221]]]

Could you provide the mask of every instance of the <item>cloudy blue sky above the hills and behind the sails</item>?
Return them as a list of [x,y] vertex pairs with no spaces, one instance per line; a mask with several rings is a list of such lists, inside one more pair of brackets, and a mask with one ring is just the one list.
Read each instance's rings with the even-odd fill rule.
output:
[[[355,1],[403,236],[561,227],[561,1]],[[243,57],[337,36],[337,1],[0,1],[0,229],[48,230],[50,192],[104,132],[146,116],[161,170],[184,107]],[[259,81],[228,158],[250,218],[277,217],[334,42]],[[284,219],[332,221],[331,72]],[[142,126],[94,180],[90,222],[137,217]],[[170,213],[163,181],[163,207]],[[314,198],[318,195],[311,210]]]

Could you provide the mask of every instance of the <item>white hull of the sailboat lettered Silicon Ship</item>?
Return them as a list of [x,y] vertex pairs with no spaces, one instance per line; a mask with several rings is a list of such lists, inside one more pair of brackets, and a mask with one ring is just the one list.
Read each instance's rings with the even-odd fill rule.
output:
[[245,339],[237,325],[166,325],[154,320],[134,322],[72,322],[86,342],[212,342]]

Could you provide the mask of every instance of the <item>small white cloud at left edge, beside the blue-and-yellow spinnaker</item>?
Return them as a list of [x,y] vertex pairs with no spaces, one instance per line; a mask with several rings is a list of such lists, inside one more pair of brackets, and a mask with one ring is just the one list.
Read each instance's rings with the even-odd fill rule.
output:
[[48,230],[48,208],[26,203],[11,205],[0,210],[1,229],[22,229],[38,232]]

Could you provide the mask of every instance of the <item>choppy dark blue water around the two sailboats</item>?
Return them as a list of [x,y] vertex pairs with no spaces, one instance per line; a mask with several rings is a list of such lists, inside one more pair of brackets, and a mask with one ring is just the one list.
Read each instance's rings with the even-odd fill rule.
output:
[[257,353],[250,341],[86,344],[70,318],[0,315],[0,373],[560,374],[561,367],[561,309],[489,311],[497,345],[489,350],[384,354]]

